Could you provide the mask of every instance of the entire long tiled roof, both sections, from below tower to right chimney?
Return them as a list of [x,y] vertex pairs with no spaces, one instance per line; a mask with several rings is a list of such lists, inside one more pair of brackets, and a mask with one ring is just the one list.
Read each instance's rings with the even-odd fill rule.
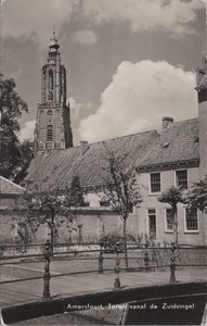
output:
[[[191,162],[199,159],[197,118],[173,123],[159,135],[156,130],[124,136],[104,141],[117,155],[127,153],[137,167],[161,163]],[[25,180],[31,189],[65,189],[73,175],[78,175],[83,187],[103,185],[106,164],[104,142],[90,143],[81,155],[80,147],[52,151],[36,156]]]

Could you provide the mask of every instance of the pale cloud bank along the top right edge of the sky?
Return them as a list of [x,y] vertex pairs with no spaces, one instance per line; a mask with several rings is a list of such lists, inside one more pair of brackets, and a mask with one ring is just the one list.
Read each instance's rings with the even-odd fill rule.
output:
[[85,0],[83,14],[93,16],[98,24],[127,22],[132,32],[155,28],[183,36],[195,30],[190,23],[196,18],[196,10],[203,9],[200,0]]

